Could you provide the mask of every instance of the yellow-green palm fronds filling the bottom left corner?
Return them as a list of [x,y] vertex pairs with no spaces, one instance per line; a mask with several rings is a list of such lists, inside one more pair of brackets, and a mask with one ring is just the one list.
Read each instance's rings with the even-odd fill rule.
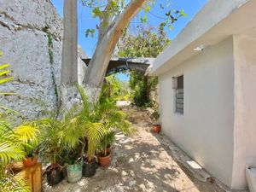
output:
[[31,146],[24,142],[36,139],[34,131],[34,128],[28,125],[12,129],[3,119],[0,120],[0,191],[30,191],[29,184],[24,179],[26,173],[13,175],[9,164],[26,157],[24,146]]

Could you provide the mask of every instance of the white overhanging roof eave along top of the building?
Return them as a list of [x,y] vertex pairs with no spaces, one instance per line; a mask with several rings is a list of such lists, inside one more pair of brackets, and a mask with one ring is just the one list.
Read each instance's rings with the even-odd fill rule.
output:
[[157,56],[149,75],[166,73],[201,51],[231,35],[256,38],[256,0],[209,0],[182,32]]

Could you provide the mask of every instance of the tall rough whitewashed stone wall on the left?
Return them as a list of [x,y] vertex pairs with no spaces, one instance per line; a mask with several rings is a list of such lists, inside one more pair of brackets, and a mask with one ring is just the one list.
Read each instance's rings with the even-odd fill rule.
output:
[[28,119],[56,107],[61,77],[62,20],[49,0],[0,0],[0,63],[15,77],[0,98]]

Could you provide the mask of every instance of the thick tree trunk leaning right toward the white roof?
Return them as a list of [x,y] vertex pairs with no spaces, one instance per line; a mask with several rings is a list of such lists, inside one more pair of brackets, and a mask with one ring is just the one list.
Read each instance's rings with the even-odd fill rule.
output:
[[131,3],[109,24],[104,32],[100,32],[96,50],[84,76],[84,86],[90,100],[95,101],[102,89],[108,63],[118,42],[122,30],[142,9],[148,0],[131,0]]

